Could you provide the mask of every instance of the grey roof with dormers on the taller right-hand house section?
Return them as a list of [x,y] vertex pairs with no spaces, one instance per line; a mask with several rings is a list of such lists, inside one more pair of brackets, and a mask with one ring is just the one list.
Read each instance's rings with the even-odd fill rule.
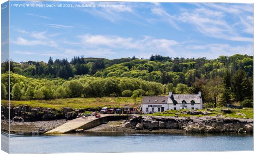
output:
[[171,101],[177,101],[178,103],[182,103],[185,100],[187,103],[194,100],[195,103],[200,103],[201,97],[198,94],[173,94],[171,96]]

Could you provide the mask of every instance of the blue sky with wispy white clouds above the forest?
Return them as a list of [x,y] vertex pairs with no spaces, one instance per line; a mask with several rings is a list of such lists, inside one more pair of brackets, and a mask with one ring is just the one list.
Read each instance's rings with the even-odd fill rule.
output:
[[[253,55],[253,4],[17,2],[73,7],[10,7],[10,56],[16,62],[71,58]],[[124,5],[119,8],[76,5]]]

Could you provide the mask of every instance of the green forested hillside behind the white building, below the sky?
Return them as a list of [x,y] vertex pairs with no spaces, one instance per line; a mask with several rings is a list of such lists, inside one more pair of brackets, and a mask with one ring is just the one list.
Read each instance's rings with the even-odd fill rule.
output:
[[[1,65],[1,97],[7,94],[7,62]],[[197,94],[210,106],[242,102],[252,106],[253,57],[217,59],[171,58],[152,55],[149,60],[73,57],[44,62],[10,62],[11,98],[14,100]]]

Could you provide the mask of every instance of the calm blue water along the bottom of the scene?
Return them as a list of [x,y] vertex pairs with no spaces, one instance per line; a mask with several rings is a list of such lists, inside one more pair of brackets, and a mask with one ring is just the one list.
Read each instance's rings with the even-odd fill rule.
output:
[[12,136],[10,149],[10,153],[247,151],[253,150],[253,135],[77,133]]

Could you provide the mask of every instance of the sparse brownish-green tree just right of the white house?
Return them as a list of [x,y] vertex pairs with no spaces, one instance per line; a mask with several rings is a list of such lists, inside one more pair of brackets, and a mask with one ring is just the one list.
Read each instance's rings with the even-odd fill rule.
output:
[[222,79],[220,77],[215,77],[209,80],[204,86],[206,101],[208,103],[213,103],[214,108],[216,108],[219,103],[219,95],[222,88]]

